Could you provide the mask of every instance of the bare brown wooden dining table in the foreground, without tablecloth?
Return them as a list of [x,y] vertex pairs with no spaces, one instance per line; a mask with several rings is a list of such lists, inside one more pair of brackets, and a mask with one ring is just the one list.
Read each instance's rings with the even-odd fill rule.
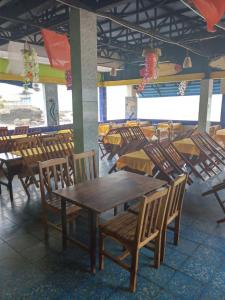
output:
[[54,194],[61,197],[63,248],[66,248],[68,240],[66,203],[70,202],[87,209],[89,212],[90,244],[88,251],[90,254],[91,271],[95,273],[98,216],[119,205],[138,199],[166,184],[166,181],[156,178],[119,171],[105,177],[81,183],[77,186],[54,191]]

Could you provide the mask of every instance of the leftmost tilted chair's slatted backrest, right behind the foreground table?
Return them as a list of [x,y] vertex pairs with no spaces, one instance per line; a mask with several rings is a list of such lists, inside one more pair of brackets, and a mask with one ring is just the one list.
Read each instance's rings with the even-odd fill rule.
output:
[[160,145],[157,143],[149,143],[144,148],[145,153],[152,160],[156,168],[168,179],[171,179],[171,175],[176,171],[174,165],[164,155]]

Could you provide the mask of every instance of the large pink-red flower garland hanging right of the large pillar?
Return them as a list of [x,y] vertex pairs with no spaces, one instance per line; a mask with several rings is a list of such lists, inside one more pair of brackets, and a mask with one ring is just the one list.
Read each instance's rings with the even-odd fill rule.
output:
[[145,67],[140,70],[140,76],[143,79],[137,88],[137,93],[141,93],[144,90],[146,83],[150,79],[158,78],[158,60],[159,56],[161,56],[161,50],[159,48],[144,49],[143,55],[145,55]]

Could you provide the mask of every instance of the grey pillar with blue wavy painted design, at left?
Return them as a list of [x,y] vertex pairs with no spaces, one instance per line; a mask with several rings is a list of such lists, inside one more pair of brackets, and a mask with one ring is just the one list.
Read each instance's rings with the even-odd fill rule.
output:
[[59,103],[57,85],[52,83],[44,84],[44,97],[46,103],[47,125],[59,125]]

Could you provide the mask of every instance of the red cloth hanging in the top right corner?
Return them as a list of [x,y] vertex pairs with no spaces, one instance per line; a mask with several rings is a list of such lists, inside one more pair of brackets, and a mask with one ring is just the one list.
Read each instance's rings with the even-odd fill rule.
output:
[[207,30],[215,32],[215,24],[220,22],[225,13],[225,0],[192,0],[192,2],[206,19]]

